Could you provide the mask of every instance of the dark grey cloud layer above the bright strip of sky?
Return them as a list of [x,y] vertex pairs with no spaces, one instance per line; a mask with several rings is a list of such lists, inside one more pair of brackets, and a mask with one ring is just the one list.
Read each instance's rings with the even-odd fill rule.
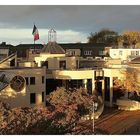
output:
[[55,28],[85,33],[140,30],[140,6],[0,6],[0,28]]

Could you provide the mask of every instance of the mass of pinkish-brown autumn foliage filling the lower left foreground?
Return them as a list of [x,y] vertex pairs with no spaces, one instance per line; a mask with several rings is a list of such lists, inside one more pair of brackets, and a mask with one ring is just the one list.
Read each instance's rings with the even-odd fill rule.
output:
[[46,107],[14,109],[0,102],[0,134],[74,134],[77,122],[92,112],[97,99],[83,89],[58,88],[46,100]]

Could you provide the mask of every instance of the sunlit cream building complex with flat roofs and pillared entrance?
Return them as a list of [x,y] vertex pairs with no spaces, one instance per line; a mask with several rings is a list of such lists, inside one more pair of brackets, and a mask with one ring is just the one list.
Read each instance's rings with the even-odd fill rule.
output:
[[81,43],[72,45],[61,46],[50,41],[47,45],[34,46],[36,48],[23,45],[24,51],[21,49],[17,52],[14,51],[15,47],[5,47],[5,54],[1,54],[0,73],[21,76],[25,84],[17,92],[12,89],[11,82],[4,86],[1,75],[0,100],[12,107],[45,105],[45,96],[57,87],[68,90],[82,87],[88,94],[97,92],[106,105],[116,104],[120,95],[115,91],[114,81],[125,77],[122,71],[128,67],[128,58],[133,60],[139,56],[140,50],[97,48]]

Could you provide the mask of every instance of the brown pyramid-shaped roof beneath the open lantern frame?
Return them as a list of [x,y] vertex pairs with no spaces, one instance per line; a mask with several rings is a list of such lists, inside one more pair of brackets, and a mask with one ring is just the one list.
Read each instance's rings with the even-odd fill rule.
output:
[[65,50],[56,42],[49,42],[47,45],[44,45],[44,47],[41,50],[41,53],[65,54]]

